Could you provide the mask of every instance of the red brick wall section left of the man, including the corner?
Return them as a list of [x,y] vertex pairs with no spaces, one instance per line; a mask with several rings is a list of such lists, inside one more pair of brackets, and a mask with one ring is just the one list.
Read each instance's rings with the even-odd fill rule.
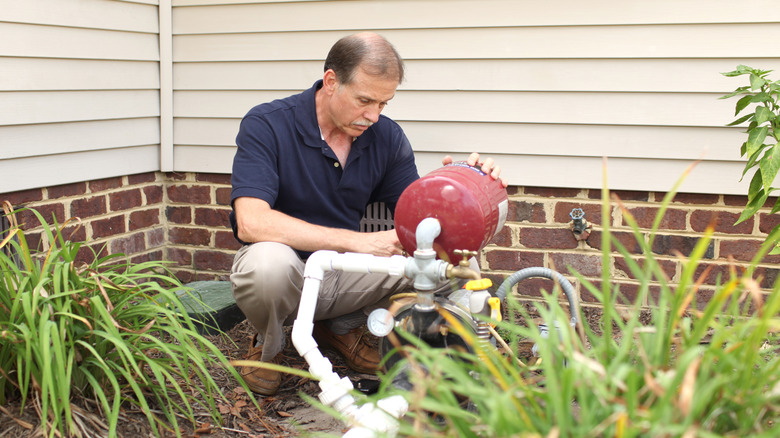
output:
[[[230,231],[230,176],[146,173],[0,194],[14,207],[30,207],[49,223],[66,221],[66,235],[100,254],[131,261],[168,260],[184,282],[226,280],[238,243]],[[74,218],[80,218],[80,225]],[[32,245],[45,248],[39,221],[18,215]],[[81,260],[92,253],[84,248]]]

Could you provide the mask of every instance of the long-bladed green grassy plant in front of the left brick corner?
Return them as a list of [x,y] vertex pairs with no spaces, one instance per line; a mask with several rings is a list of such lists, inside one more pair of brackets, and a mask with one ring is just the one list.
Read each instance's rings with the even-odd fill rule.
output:
[[180,435],[177,419],[196,425],[204,410],[219,424],[224,395],[208,368],[238,376],[198,334],[181,283],[162,263],[121,254],[80,265],[82,244],[32,211],[47,250],[29,247],[13,215],[0,242],[0,405],[34,403],[48,436],[115,436],[128,407],[158,436]]

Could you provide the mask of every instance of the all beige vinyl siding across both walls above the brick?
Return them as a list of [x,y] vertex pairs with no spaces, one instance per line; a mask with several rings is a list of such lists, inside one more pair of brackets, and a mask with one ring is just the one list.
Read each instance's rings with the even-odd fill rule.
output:
[[[375,30],[406,60],[385,113],[421,173],[476,150],[510,184],[598,188],[607,157],[610,188],[666,191],[701,159],[683,191],[743,194],[743,134],[724,126],[734,100],[718,97],[746,82],[719,73],[780,71],[776,0],[0,0],[0,11],[3,192],[229,173],[252,106],[308,88],[336,39]],[[62,171],[41,172],[51,163]]]

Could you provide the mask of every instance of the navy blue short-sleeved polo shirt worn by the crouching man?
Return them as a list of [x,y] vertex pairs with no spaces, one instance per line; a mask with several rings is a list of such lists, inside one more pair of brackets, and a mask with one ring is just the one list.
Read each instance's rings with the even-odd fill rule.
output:
[[[244,116],[236,137],[231,204],[242,196],[259,198],[309,223],[358,230],[368,204],[381,201],[393,209],[419,178],[414,154],[401,127],[380,115],[352,143],[342,167],[317,123],[314,96],[320,87],[321,80]],[[236,234],[232,214],[231,225]]]

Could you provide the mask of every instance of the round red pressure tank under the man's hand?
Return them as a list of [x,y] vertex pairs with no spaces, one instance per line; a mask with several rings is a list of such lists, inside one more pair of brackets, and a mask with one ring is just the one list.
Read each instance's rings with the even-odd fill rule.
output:
[[437,256],[458,264],[456,249],[479,251],[501,230],[508,209],[501,181],[458,161],[436,169],[409,185],[395,207],[395,231],[404,249],[417,249],[415,233],[423,219],[439,220],[433,241]]

